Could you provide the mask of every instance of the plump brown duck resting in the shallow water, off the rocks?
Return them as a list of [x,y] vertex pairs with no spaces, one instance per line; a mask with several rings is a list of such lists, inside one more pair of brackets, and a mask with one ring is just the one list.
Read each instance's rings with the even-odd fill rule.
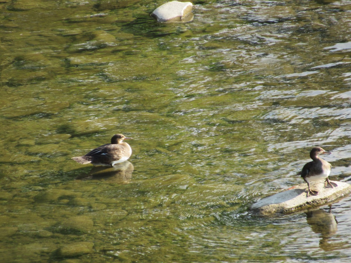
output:
[[115,134],[111,139],[111,144],[104,144],[91,150],[84,156],[72,157],[72,159],[81,164],[91,163],[95,166],[114,166],[117,163],[124,162],[132,154],[132,148],[123,140],[133,139],[123,134]]

